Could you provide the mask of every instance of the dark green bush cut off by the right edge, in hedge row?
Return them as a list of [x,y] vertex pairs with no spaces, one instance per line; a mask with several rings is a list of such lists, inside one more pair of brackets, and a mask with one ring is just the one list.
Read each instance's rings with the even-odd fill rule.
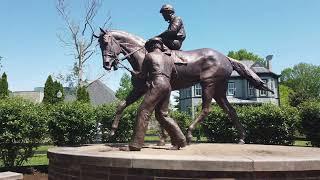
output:
[[300,106],[302,131],[312,146],[320,147],[320,101],[309,101]]

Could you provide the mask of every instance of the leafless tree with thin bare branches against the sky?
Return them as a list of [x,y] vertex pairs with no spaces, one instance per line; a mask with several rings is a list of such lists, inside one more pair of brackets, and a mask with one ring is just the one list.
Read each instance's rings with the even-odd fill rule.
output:
[[[93,25],[96,22],[96,15],[102,6],[101,0],[87,0],[71,3],[66,0],[55,0],[56,9],[61,16],[65,26],[58,38],[65,49],[71,51],[74,57],[73,68],[70,74],[62,75],[62,78],[69,85],[76,84],[82,86],[85,84],[85,63],[90,60],[96,52],[95,39],[93,38]],[[80,5],[80,6],[76,6]],[[74,6],[74,7],[73,7]],[[84,7],[84,9],[82,9]],[[74,13],[72,10],[78,9],[81,13]],[[108,24],[111,17],[106,18],[103,24]],[[104,28],[104,27],[103,27]]]

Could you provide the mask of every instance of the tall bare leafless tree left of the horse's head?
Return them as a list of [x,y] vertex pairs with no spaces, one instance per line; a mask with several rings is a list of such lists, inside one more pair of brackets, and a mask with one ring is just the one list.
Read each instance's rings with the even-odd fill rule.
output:
[[[80,21],[71,19],[69,12],[70,7],[67,4],[68,0],[56,0],[56,9],[58,14],[65,22],[68,38],[58,35],[59,40],[65,46],[73,50],[74,67],[73,73],[77,77],[78,85],[83,85],[83,73],[85,64],[96,52],[96,44],[94,43],[94,26],[92,25],[98,10],[101,7],[101,0],[87,0],[85,5],[85,15],[79,18]],[[106,22],[110,21],[110,17]],[[91,31],[91,33],[90,33]]]

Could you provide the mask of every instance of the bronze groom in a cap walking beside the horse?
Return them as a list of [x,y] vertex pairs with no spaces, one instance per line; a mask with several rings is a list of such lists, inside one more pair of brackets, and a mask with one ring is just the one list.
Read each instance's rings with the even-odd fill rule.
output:
[[178,124],[169,117],[168,106],[171,94],[170,79],[175,73],[175,66],[171,58],[165,55],[160,38],[153,38],[146,42],[149,52],[143,61],[141,72],[134,73],[149,84],[148,91],[138,109],[136,126],[129,143],[130,151],[139,151],[144,143],[145,132],[149,118],[155,110],[156,119],[169,134],[173,147],[179,149],[186,146],[186,138]]

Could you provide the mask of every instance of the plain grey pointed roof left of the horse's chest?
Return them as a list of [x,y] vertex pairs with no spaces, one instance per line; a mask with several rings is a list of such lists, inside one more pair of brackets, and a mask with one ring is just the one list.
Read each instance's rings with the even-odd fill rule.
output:
[[115,93],[100,80],[90,83],[87,91],[92,105],[106,104],[116,99]]

